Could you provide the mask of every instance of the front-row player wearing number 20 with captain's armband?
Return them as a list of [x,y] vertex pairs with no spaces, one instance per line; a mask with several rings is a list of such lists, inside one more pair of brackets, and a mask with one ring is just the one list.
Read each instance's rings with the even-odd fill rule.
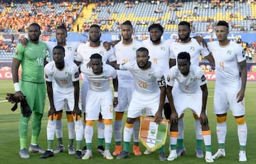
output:
[[[142,116],[144,109],[149,110],[151,116],[156,116],[157,124],[162,119],[166,96],[164,73],[149,61],[149,51],[146,48],[139,48],[136,58],[137,61],[114,65],[117,69],[129,70],[134,77],[135,86],[124,126],[124,147],[117,159],[129,157],[129,143],[132,138],[134,121]],[[166,160],[164,146],[159,149],[159,160]]]

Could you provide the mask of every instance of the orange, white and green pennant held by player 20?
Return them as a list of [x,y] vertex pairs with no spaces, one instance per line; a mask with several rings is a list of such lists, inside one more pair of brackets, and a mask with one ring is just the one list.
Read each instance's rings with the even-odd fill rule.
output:
[[149,151],[156,151],[164,146],[169,127],[169,121],[166,119],[163,119],[160,124],[156,124],[154,120],[154,117],[142,116],[139,128],[139,141]]

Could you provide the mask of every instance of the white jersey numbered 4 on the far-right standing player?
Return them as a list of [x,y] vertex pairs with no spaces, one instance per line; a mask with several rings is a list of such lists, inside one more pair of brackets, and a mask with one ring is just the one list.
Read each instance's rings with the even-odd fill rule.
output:
[[237,87],[241,82],[238,62],[245,60],[242,46],[230,40],[225,47],[220,46],[218,41],[211,42],[208,47],[215,60],[215,86]]

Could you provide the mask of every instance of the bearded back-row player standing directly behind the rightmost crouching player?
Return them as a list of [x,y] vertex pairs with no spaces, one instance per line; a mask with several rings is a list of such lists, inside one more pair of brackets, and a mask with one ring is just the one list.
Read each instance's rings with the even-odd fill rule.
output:
[[[191,33],[191,26],[190,23],[186,21],[181,21],[178,23],[178,38],[180,39],[179,42],[172,42],[170,45],[170,53],[171,53],[171,67],[176,65],[176,58],[178,53],[187,52],[191,55],[191,64],[192,65],[199,65],[199,57],[203,55],[208,61],[213,63],[214,59],[213,56],[210,55],[208,48],[204,47],[202,44],[199,44],[195,38],[190,37]],[[174,86],[176,89],[176,85]],[[169,114],[170,116],[171,114]],[[183,155],[186,153],[186,148],[183,145],[183,116],[181,115],[178,121],[178,148],[177,154],[178,156]],[[202,129],[199,117],[196,114],[193,114],[195,119],[195,129],[196,129],[196,157],[203,158],[203,136],[202,136]]]

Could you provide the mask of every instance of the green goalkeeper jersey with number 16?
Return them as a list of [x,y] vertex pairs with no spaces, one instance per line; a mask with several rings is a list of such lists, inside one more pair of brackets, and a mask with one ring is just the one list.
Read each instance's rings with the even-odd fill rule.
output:
[[47,45],[42,41],[38,44],[28,41],[28,45],[18,44],[16,47],[16,58],[21,61],[21,80],[26,82],[44,83],[44,60],[47,53]]

